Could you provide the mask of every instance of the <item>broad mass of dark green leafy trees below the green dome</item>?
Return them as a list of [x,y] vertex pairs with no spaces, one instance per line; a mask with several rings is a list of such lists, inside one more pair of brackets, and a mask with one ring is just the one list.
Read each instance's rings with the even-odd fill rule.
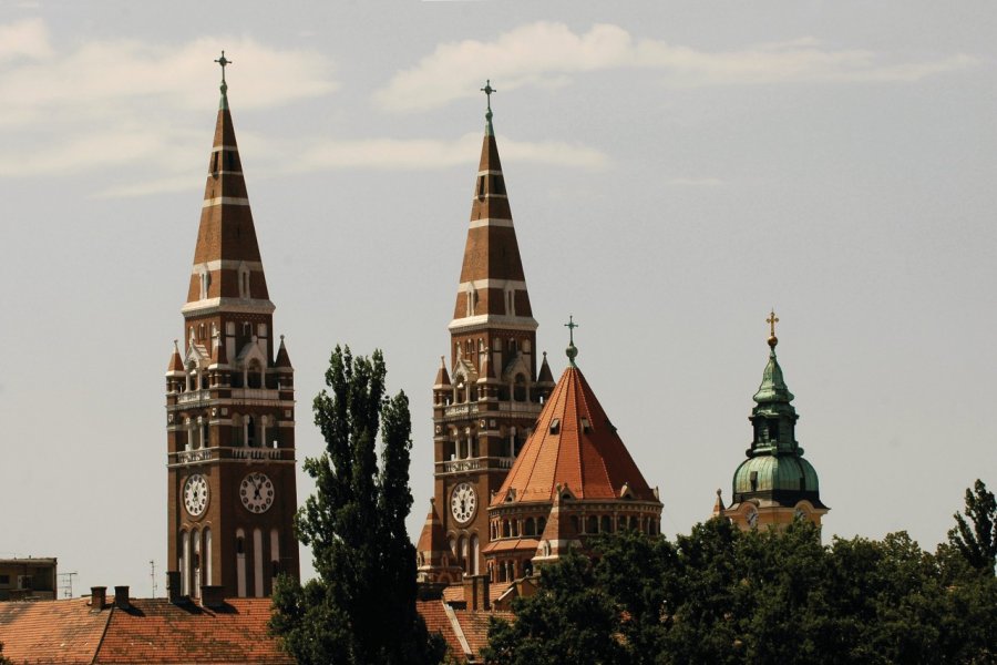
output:
[[[835,539],[726,520],[675,542],[620,533],[541,571],[494,622],[490,663],[991,663],[997,582],[904,533]],[[956,555],[956,559],[959,559]],[[593,617],[593,618],[589,618]],[[578,659],[573,644],[584,644]]]

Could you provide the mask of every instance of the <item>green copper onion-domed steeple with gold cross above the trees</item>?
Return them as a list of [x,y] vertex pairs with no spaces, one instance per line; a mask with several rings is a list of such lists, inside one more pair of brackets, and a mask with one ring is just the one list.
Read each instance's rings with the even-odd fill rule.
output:
[[749,418],[751,448],[746,451],[748,459],[734,471],[731,504],[722,513],[743,529],[784,525],[795,515],[820,524],[829,509],[821,502],[816,471],[803,459],[803,449],[796,442],[800,417],[775,357],[779,319],[774,311],[765,323],[770,326],[769,361]]

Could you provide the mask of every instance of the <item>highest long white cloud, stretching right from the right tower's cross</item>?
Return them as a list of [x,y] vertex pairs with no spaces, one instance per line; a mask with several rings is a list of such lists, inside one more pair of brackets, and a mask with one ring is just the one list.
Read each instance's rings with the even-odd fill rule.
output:
[[391,111],[423,111],[477,94],[481,63],[500,89],[564,84],[599,70],[648,69],[667,85],[746,85],[800,81],[916,81],[966,69],[977,59],[956,54],[926,62],[890,62],[865,49],[831,49],[813,38],[709,52],[638,39],[618,25],[596,24],[575,33],[563,23],[536,22],[493,41],[440,44],[415,66],[398,72],[374,93]]

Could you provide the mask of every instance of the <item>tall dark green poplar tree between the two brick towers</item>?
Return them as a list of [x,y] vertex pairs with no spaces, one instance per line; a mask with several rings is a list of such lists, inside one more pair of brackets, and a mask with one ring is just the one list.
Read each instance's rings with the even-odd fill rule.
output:
[[[412,507],[409,401],[384,396],[380,351],[332,352],[314,403],[326,440],[305,461],[315,479],[295,520],[311,546],[317,579],[281,577],[270,630],[301,664],[439,663],[445,644],[415,611],[415,551],[404,520]],[[380,467],[378,431],[381,431]]]

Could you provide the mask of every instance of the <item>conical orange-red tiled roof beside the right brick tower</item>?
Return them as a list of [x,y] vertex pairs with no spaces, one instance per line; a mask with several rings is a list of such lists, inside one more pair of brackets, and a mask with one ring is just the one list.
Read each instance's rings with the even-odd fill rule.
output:
[[557,485],[576,499],[619,499],[627,484],[638,501],[657,501],[577,367],[564,370],[523,451],[492,500],[551,501]]

